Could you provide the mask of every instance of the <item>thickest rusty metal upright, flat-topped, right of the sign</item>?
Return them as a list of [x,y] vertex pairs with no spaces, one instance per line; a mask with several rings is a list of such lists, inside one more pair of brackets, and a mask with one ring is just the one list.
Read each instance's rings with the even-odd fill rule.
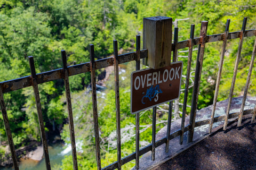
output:
[[203,60],[204,60],[204,48],[205,48],[205,38],[207,33],[207,25],[208,25],[207,21],[202,21],[201,31],[200,31],[201,40],[198,46],[194,89],[193,89],[193,96],[192,96],[191,113],[189,118],[189,125],[191,125],[191,129],[188,131],[188,143],[193,141],[193,135],[194,135],[197,101],[198,101],[201,72],[202,72],[202,66],[203,66]]

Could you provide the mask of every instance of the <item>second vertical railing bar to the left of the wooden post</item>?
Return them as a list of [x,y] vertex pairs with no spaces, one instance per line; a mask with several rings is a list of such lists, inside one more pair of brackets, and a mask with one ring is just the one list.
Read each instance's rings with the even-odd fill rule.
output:
[[117,40],[113,41],[114,45],[114,69],[115,69],[115,94],[116,94],[116,134],[117,134],[117,163],[118,169],[121,169],[121,126],[120,126],[120,97],[119,97],[119,69],[118,69],[118,47]]

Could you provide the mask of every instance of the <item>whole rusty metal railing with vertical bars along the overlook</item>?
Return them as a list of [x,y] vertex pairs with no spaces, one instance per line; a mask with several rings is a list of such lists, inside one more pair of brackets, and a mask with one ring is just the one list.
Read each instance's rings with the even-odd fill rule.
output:
[[[230,118],[234,118],[238,116],[238,126],[241,124],[243,115],[252,114],[252,121],[255,119],[256,115],[256,105],[254,109],[246,110],[244,111],[244,105],[245,100],[247,96],[248,89],[250,87],[250,78],[255,58],[255,48],[256,48],[256,40],[253,46],[253,52],[252,52],[252,58],[251,63],[249,66],[249,73],[247,75],[247,81],[245,84],[245,90],[244,90],[244,96],[243,101],[241,105],[241,111],[237,113],[229,113],[230,112],[230,106],[231,106],[231,100],[233,97],[234,87],[235,87],[235,80],[236,80],[236,74],[238,70],[238,63],[241,57],[241,50],[243,45],[243,39],[244,37],[251,37],[256,36],[256,29],[253,30],[245,30],[246,28],[246,21],[247,18],[244,18],[243,21],[243,27],[241,31],[237,32],[229,32],[229,23],[230,20],[227,20],[226,23],[226,29],[224,33],[220,33],[218,35],[208,35],[207,36],[207,21],[203,21],[201,24],[201,31],[200,36],[197,38],[194,38],[194,30],[195,25],[191,25],[191,31],[190,31],[190,39],[185,41],[178,42],[178,28],[174,29],[174,43],[172,44],[172,51],[173,51],[173,62],[178,60],[178,49],[182,48],[189,48],[188,52],[188,63],[187,63],[187,73],[186,73],[186,83],[185,83],[185,91],[184,91],[184,100],[183,100],[183,109],[182,109],[182,121],[181,121],[181,128],[180,130],[170,133],[171,131],[171,118],[172,118],[172,107],[173,102],[171,101],[169,103],[169,116],[168,116],[168,123],[167,123],[167,134],[166,137],[157,140],[156,141],[156,111],[157,108],[153,108],[153,133],[152,133],[152,142],[150,145],[139,148],[139,129],[140,129],[140,116],[139,113],[136,113],[136,146],[135,146],[135,152],[130,154],[129,156],[126,156],[124,158],[121,157],[121,127],[120,127],[120,106],[119,106],[119,71],[118,71],[118,65],[125,63],[125,62],[131,62],[136,61],[136,70],[140,70],[140,60],[142,58],[147,58],[147,49],[140,49],[140,36],[137,36],[137,43],[136,43],[136,52],[127,53],[123,55],[118,55],[118,47],[117,47],[117,41],[114,40],[114,56],[103,58],[101,60],[94,61],[94,46],[90,45],[90,58],[91,61],[87,63],[77,64],[73,66],[67,66],[67,57],[65,50],[61,51],[61,57],[62,57],[62,64],[63,67],[61,69],[52,70],[48,72],[43,73],[37,73],[35,71],[35,65],[34,65],[34,59],[32,56],[29,57],[29,64],[30,64],[30,70],[31,75],[27,77],[22,77],[19,79],[14,80],[8,80],[4,82],[0,82],[0,105],[2,109],[2,115],[4,119],[5,129],[7,138],[9,141],[9,146],[12,154],[12,160],[13,165],[15,169],[19,169],[18,165],[18,159],[15,154],[15,148],[12,138],[12,133],[10,129],[9,119],[7,117],[6,113],[6,107],[4,102],[3,94],[30,87],[33,86],[34,88],[34,95],[36,100],[36,106],[37,106],[37,113],[38,113],[38,120],[39,120],[39,126],[41,130],[41,139],[43,143],[43,149],[44,149],[44,157],[45,157],[45,164],[46,169],[51,169],[50,166],[50,159],[49,159],[49,152],[47,149],[47,142],[46,142],[46,135],[44,131],[44,122],[42,117],[42,109],[41,109],[41,102],[39,97],[39,91],[38,91],[38,84],[54,81],[58,79],[63,79],[65,82],[65,91],[66,91],[66,99],[67,99],[67,111],[68,111],[68,120],[69,120],[69,130],[70,130],[70,139],[71,139],[71,146],[72,146],[72,154],[73,154],[73,165],[74,169],[78,169],[77,166],[77,156],[76,156],[76,142],[75,142],[75,132],[74,132],[74,123],[73,123],[73,113],[72,113],[72,107],[71,107],[71,97],[70,97],[70,88],[69,88],[69,77],[76,74],[82,74],[85,72],[91,72],[91,83],[92,83],[92,103],[93,103],[93,122],[94,122],[94,135],[95,135],[95,152],[97,155],[97,167],[98,169],[121,169],[122,165],[131,162],[135,159],[135,168],[139,169],[139,157],[146,154],[147,152],[152,152],[152,160],[155,159],[155,149],[163,144],[166,144],[166,152],[169,150],[169,141],[174,139],[175,137],[180,136],[180,144],[182,144],[183,141],[183,134],[188,131],[188,142],[193,141],[193,134],[194,134],[194,128],[202,125],[209,124],[209,133],[212,131],[212,125],[214,122],[220,122],[224,121],[223,129],[226,130],[227,128],[227,122]],[[230,94],[229,94],[229,103],[227,106],[227,112],[226,115],[214,117],[214,112],[216,108],[217,98],[218,98],[218,92],[219,92],[219,86],[220,86],[220,79],[221,79],[221,72],[222,72],[222,66],[223,66],[223,58],[226,50],[227,40],[229,39],[236,39],[239,38],[239,46],[238,46],[238,52],[236,57],[236,63],[234,68],[234,74],[233,74],[233,80],[231,83],[230,88]],[[197,101],[198,101],[198,94],[199,94],[199,86],[200,86],[200,80],[201,80],[201,72],[202,72],[202,66],[203,66],[203,60],[204,60],[204,48],[206,43],[211,43],[215,41],[223,41],[222,50],[221,50],[221,57],[220,57],[220,64],[219,64],[219,71],[218,71],[218,77],[215,87],[215,94],[213,99],[213,110],[212,115],[210,119],[203,120],[196,122],[196,110],[197,110]],[[185,126],[185,115],[186,115],[186,107],[187,107],[187,100],[188,100],[188,88],[189,88],[189,79],[190,79],[190,70],[191,70],[191,57],[193,54],[193,46],[198,45],[198,53],[197,53],[197,60],[196,60],[196,70],[195,70],[195,79],[194,79],[194,89],[193,89],[193,95],[192,95],[192,104],[191,104],[191,113],[190,113],[190,120],[189,124]],[[115,68],[115,96],[116,96],[116,127],[117,127],[117,162],[114,162],[106,167],[101,167],[101,158],[100,158],[100,141],[99,141],[99,125],[98,125],[98,109],[97,109],[97,94],[96,94],[96,82],[95,82],[95,70],[102,69],[108,66],[114,65]]]

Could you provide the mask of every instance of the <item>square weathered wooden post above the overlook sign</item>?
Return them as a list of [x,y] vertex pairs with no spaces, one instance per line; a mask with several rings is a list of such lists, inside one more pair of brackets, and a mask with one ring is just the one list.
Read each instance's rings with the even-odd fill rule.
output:
[[172,52],[172,18],[143,18],[143,49],[148,49],[144,65],[159,69],[170,65]]

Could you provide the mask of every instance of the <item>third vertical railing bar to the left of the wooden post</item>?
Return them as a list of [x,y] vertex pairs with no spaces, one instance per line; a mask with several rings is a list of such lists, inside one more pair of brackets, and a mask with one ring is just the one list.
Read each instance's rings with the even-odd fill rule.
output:
[[90,67],[91,67],[91,83],[92,83],[92,108],[93,108],[93,124],[95,135],[95,152],[97,159],[97,168],[101,169],[100,160],[100,138],[99,138],[99,123],[98,123],[98,108],[97,108],[97,92],[95,78],[95,62],[94,62],[94,46],[90,44]]

